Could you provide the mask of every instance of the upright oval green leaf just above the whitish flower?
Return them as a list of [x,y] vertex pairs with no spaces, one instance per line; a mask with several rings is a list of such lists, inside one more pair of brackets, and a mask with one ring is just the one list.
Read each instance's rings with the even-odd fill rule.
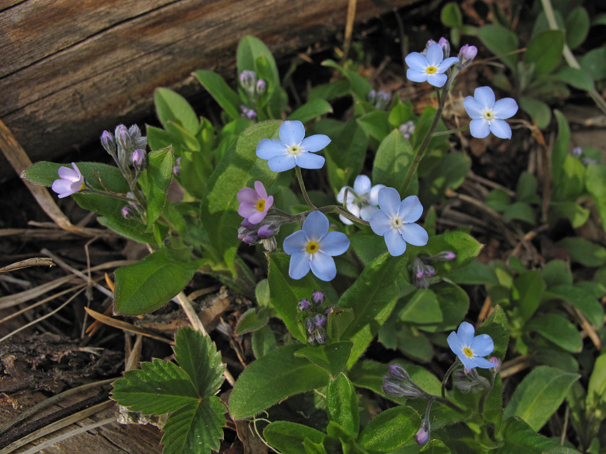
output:
[[404,177],[414,158],[414,150],[399,130],[393,130],[379,145],[372,167],[373,184],[384,184],[402,191]]

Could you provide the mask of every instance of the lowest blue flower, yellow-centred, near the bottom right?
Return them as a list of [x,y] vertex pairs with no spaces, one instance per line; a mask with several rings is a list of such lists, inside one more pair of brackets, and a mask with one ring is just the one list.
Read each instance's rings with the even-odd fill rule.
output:
[[493,339],[488,334],[480,334],[474,337],[476,329],[468,322],[463,322],[458,327],[457,332],[451,332],[448,335],[448,345],[451,347],[458,359],[461,359],[465,369],[480,367],[481,369],[491,369],[496,364],[483,358],[491,354],[495,349]]

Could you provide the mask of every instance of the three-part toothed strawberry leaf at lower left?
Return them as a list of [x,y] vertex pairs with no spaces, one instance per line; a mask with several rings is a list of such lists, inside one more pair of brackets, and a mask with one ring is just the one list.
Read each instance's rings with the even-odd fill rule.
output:
[[224,364],[210,340],[191,328],[175,337],[175,359],[141,363],[113,383],[111,398],[131,411],[170,413],[163,428],[164,454],[219,450],[225,406],[215,396],[223,382]]

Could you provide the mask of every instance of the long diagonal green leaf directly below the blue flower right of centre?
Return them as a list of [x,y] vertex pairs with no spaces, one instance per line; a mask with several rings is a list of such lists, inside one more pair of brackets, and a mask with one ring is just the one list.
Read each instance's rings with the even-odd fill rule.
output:
[[364,353],[394,310],[399,294],[396,277],[405,265],[406,255],[404,258],[392,257],[389,253],[379,255],[366,265],[356,282],[339,299],[337,306],[351,307],[355,316],[341,335],[341,339],[354,342],[347,361],[348,369]]

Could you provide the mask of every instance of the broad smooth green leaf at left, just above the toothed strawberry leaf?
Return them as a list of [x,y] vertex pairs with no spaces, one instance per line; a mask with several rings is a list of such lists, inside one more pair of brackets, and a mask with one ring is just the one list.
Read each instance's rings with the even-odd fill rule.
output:
[[140,315],[152,312],[175,297],[200,266],[200,260],[170,260],[160,250],[133,265],[115,270],[115,313]]

